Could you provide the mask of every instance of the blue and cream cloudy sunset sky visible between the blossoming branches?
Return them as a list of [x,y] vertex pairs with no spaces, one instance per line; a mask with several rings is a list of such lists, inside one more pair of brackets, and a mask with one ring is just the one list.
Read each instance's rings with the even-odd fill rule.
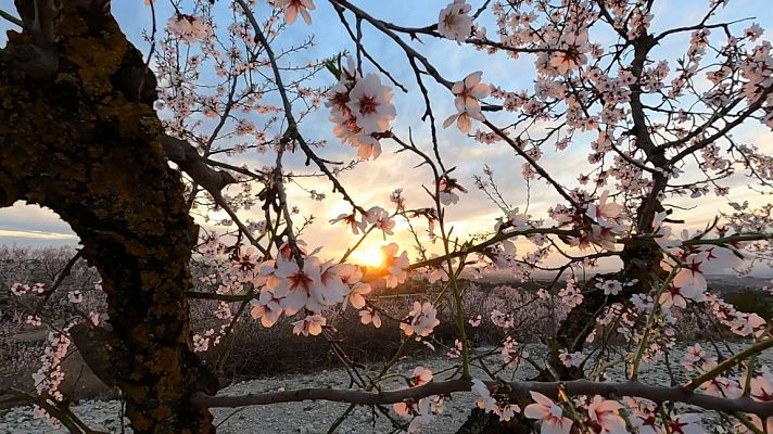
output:
[[[476,10],[482,4],[482,0],[470,0],[472,9]],[[11,0],[0,0],[0,8],[4,11],[13,11]],[[447,4],[443,1],[354,1],[371,15],[393,22],[403,26],[424,26],[436,23],[439,11]],[[773,14],[760,0],[733,0],[731,4],[722,10],[718,20],[732,21],[744,17],[755,17],[748,23],[742,23],[735,27],[737,30],[748,27],[751,22],[760,23],[768,31],[764,39],[771,39],[773,29]],[[183,3],[185,4],[185,3]],[[264,1],[257,1],[257,13],[265,13],[268,8]],[[297,62],[328,58],[343,49],[353,49],[353,44],[345,34],[345,30],[332,7],[322,0],[315,0],[316,9],[312,11],[313,24],[306,26],[302,20],[291,26],[287,31],[280,34],[278,43],[289,46],[303,40],[308,35],[314,35],[316,46],[296,58]],[[655,18],[652,30],[694,24],[700,20],[700,13],[706,10],[708,0],[660,0],[655,3]],[[143,53],[148,51],[149,44],[142,39],[142,33],[150,28],[151,16],[149,8],[143,5],[141,0],[122,0],[113,2],[113,13],[118,21],[124,33]],[[216,16],[227,17],[228,3],[219,0],[216,9]],[[168,0],[156,0],[157,22],[161,26],[173,13],[173,8]],[[495,27],[490,13],[484,14],[478,21],[478,25],[483,25],[490,29],[493,36]],[[8,23],[1,23],[0,29],[9,28]],[[428,126],[420,120],[423,113],[423,101],[417,91],[413,72],[407,66],[405,56],[398,48],[389,39],[373,31],[369,26],[364,25],[365,43],[371,54],[379,62],[386,66],[395,78],[406,85],[408,93],[403,93],[398,89],[394,91],[393,102],[397,108],[397,119],[394,123],[394,130],[401,137],[407,137],[410,130],[419,146],[424,150],[429,146],[427,140],[429,135]],[[3,31],[4,34],[4,31]],[[495,36],[493,36],[495,37]],[[680,56],[688,41],[689,35],[670,38],[655,50],[655,59],[669,59],[672,61]],[[593,34],[592,39],[601,43],[612,43],[613,38],[607,34]],[[4,43],[4,35],[0,37],[0,43]],[[490,56],[482,52],[477,52],[469,47],[460,47],[454,41],[438,40],[429,37],[421,38],[420,42],[413,42],[413,46],[424,53],[428,59],[439,68],[441,75],[452,80],[459,80],[467,74],[483,69],[485,82],[495,82],[508,90],[529,89],[533,78],[533,58],[522,56],[511,60],[505,54]],[[672,66],[673,67],[673,66]],[[366,73],[376,72],[372,66],[366,64]],[[333,84],[330,75],[320,75],[314,79],[314,85],[319,87]],[[385,82],[385,80],[383,80]],[[434,110],[439,124],[455,112],[453,107],[453,97],[447,90],[428,81],[430,97],[435,101]],[[332,125],[327,120],[328,111],[322,108],[309,116],[301,126],[301,131],[307,139],[329,141],[327,148],[320,151],[324,157],[337,161],[351,161],[356,158],[356,152],[347,145],[339,144],[332,137]],[[440,128],[440,125],[439,125]],[[473,126],[474,129],[474,126]],[[750,125],[738,129],[735,133],[742,142],[756,143],[768,153],[773,155],[773,133],[758,125]],[[590,141],[590,140],[588,140]],[[454,176],[465,186],[469,193],[464,194],[459,204],[447,208],[447,216],[454,227],[454,233],[462,240],[465,237],[493,230],[496,217],[502,216],[502,212],[489,203],[482,192],[474,188],[472,176],[482,174],[484,165],[489,165],[495,174],[495,178],[505,193],[505,199],[514,206],[524,209],[527,203],[529,212],[535,218],[546,218],[546,209],[557,203],[560,197],[546,188],[542,181],[535,181],[531,191],[528,191],[520,177],[522,161],[514,155],[512,151],[504,144],[484,145],[465,137],[455,128],[439,130],[439,143],[444,162],[447,166],[456,167]],[[408,200],[408,207],[429,206],[429,197],[422,192],[422,184],[429,186],[430,174],[426,168],[415,168],[416,161],[407,153],[395,154],[394,144],[382,141],[384,153],[376,162],[366,162],[355,169],[341,175],[341,181],[347,187],[355,200],[366,208],[380,205],[389,208],[389,194],[397,188],[405,191]],[[580,143],[575,150],[557,153],[546,150],[542,159],[543,165],[556,174],[556,178],[566,184],[575,186],[575,179],[580,173],[587,168],[586,155],[588,144]],[[266,156],[250,154],[244,157],[244,162],[252,167],[261,167],[270,164]],[[302,159],[296,156],[291,159],[299,171],[303,171]],[[306,169],[307,171],[308,169]],[[289,187],[289,197],[292,203],[300,204],[305,216],[314,215],[316,222],[303,234],[304,241],[311,246],[325,246],[329,257],[335,257],[343,252],[354,238],[344,226],[330,226],[328,219],[341,213],[351,212],[339,195],[330,191],[330,186],[322,179],[305,180],[302,182],[306,189],[315,189],[326,192],[327,197],[322,202],[309,201],[307,193],[303,190]],[[735,179],[733,186],[732,200],[743,202],[744,200],[761,201],[757,193],[745,186],[743,179]],[[672,202],[677,205],[689,205],[682,201]],[[682,212],[680,218],[687,220],[687,227],[700,228],[711,220],[718,210],[730,212],[727,200],[717,199],[713,195],[706,196],[699,201],[696,208],[689,212]],[[244,218],[256,217],[257,213],[252,210],[241,212]],[[213,215],[218,218],[219,216]],[[423,233],[426,225],[419,224],[419,231]],[[368,252],[373,252],[385,242],[397,242],[411,254],[411,237],[405,231],[405,224],[397,222],[395,228],[396,237],[388,240],[380,234],[371,235],[363,245],[366,256]],[[69,230],[69,227],[60,220],[52,212],[37,206],[28,206],[17,203],[10,208],[0,209],[0,244],[17,243],[30,246],[43,245],[77,245],[77,237]],[[519,243],[519,248],[529,248],[528,242]],[[523,252],[523,251],[521,251]]]

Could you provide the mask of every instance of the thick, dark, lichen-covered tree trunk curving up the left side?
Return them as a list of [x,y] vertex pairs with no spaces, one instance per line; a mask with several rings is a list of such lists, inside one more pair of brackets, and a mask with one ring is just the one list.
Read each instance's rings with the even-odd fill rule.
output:
[[35,15],[16,3],[26,28],[0,52],[0,207],[50,207],[80,238],[109,303],[94,371],[123,392],[134,431],[214,433],[188,403],[217,380],[189,347],[195,226],[160,141],[155,78],[109,2],[65,1],[55,15],[42,8],[53,2]]

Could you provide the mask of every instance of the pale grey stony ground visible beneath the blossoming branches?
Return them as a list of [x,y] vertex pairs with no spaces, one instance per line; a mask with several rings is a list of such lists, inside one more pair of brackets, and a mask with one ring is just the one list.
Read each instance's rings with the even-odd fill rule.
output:
[[[707,345],[705,345],[707,347]],[[740,346],[732,345],[734,350],[738,350]],[[532,352],[540,352],[540,348],[532,348]],[[676,359],[674,354],[672,366],[681,360]],[[773,350],[768,350],[759,361],[763,365],[773,368]],[[423,366],[438,372],[449,366],[444,358],[432,358],[426,360],[404,360],[397,366],[400,372],[406,375],[416,366]],[[524,367],[525,368],[525,367]],[[516,375],[517,379],[524,379],[534,374],[532,369],[521,368]],[[509,379],[509,374],[506,379]],[[683,371],[675,373],[679,381],[686,379]],[[473,376],[483,378],[480,372],[472,372]],[[617,375],[612,375],[617,376]],[[439,376],[444,379],[443,375]],[[650,384],[668,385],[669,380],[667,370],[662,361],[643,367],[641,379]],[[304,388],[304,387],[347,387],[349,375],[343,369],[324,370],[315,374],[287,374],[263,378],[250,382],[238,383],[223,390],[220,394],[245,394],[245,393],[262,393],[277,391],[280,387],[284,390]],[[392,383],[393,388],[398,388],[404,385]],[[455,433],[456,430],[464,423],[469,414],[470,408],[474,405],[474,397],[471,394],[457,394],[453,400],[446,403],[445,411],[435,418],[434,423],[423,432],[426,433]],[[216,423],[219,423],[218,433],[266,433],[266,434],[284,434],[284,433],[327,433],[330,424],[343,412],[347,407],[345,404],[338,403],[291,403],[274,406],[250,407],[238,411],[230,416],[233,410],[214,409]],[[121,424],[118,418],[119,405],[115,400],[100,401],[87,400],[75,407],[75,412],[80,414],[89,426],[98,430],[107,431],[111,433],[119,433]],[[230,417],[229,417],[230,416]],[[389,433],[392,431],[390,421],[377,412],[373,418],[369,408],[358,407],[355,409],[339,427],[337,433],[342,434],[369,434],[369,433]],[[706,427],[711,429],[715,423],[711,420],[706,421]],[[713,431],[713,430],[711,430]],[[65,433],[60,429],[54,430],[47,421],[33,417],[31,410],[28,408],[15,408],[0,416],[0,433],[9,434],[39,434],[39,433]],[[128,429],[126,432],[130,432]]]

